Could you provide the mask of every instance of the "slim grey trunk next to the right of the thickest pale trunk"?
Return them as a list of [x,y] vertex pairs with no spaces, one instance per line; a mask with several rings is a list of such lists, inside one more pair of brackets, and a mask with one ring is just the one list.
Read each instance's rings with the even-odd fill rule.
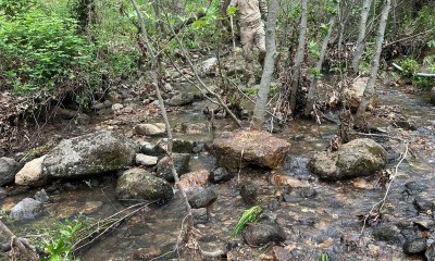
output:
[[295,63],[293,67],[293,76],[291,76],[291,91],[290,91],[290,110],[291,113],[295,112],[296,109],[296,95],[298,91],[299,85],[299,74],[300,74],[300,65],[303,61],[303,54],[306,50],[306,36],[307,36],[307,5],[308,0],[301,0],[301,17],[300,17],[300,27],[299,27],[299,39],[298,39],[298,50],[295,55]]

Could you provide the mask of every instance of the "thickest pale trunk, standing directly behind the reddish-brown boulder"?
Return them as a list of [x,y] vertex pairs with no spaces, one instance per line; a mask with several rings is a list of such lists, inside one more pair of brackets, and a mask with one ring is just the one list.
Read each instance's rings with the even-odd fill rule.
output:
[[268,97],[272,80],[272,74],[275,65],[275,28],[278,16],[279,0],[271,0],[269,3],[269,16],[265,27],[265,59],[263,73],[261,75],[260,88],[257,95],[257,103],[253,109],[252,126],[254,129],[261,129],[264,123]]

